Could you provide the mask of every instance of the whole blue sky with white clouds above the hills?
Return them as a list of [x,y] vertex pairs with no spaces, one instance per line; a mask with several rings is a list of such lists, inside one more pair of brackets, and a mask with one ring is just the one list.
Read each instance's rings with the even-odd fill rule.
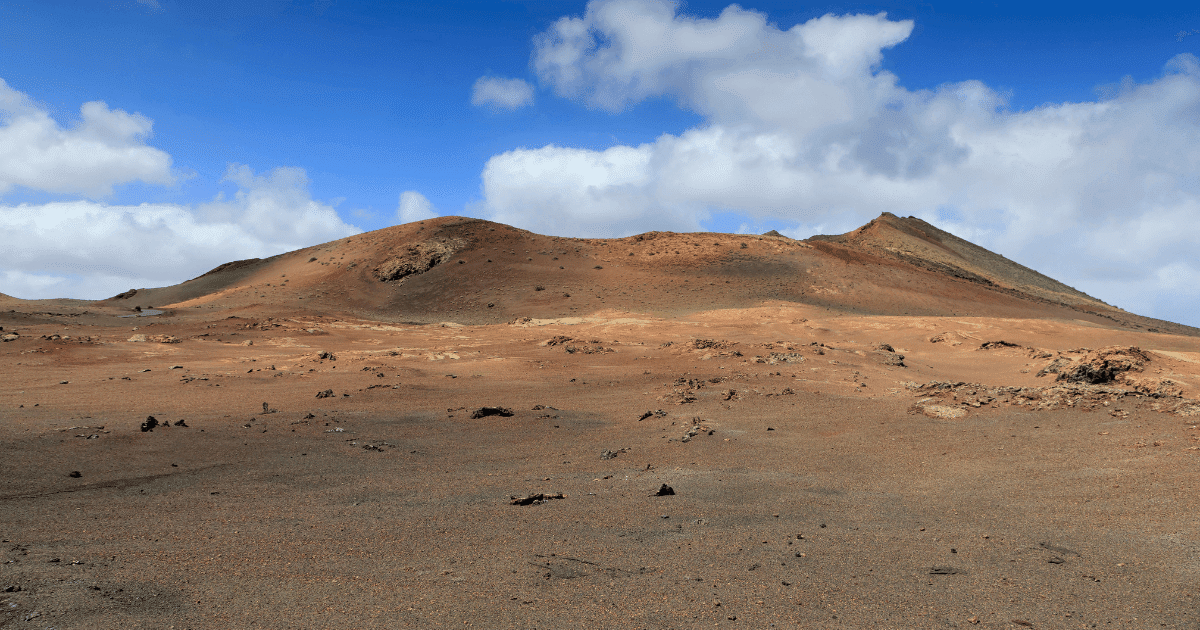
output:
[[1200,325],[1200,10],[980,5],[11,0],[0,292],[433,214],[806,236],[890,210]]

